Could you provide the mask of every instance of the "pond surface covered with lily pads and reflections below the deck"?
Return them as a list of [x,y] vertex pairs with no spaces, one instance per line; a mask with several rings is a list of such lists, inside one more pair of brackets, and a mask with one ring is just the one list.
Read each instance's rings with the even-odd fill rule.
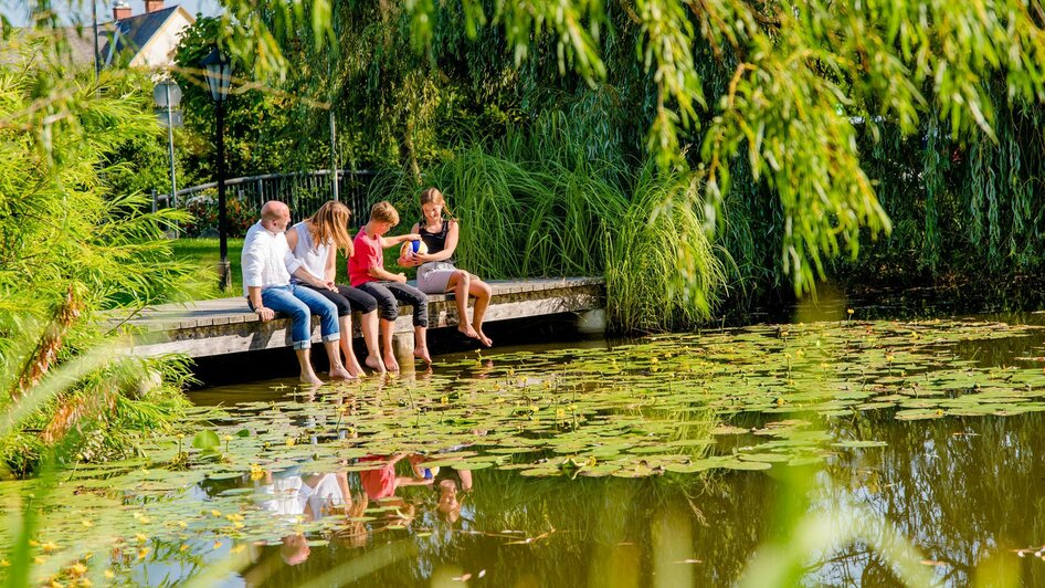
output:
[[841,315],[193,392],[2,536],[35,501],[35,577],[95,584],[1045,584],[1037,315]]

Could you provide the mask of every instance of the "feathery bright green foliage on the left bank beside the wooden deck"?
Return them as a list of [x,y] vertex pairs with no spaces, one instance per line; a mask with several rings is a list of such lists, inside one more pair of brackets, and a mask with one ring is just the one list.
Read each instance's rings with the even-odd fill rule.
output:
[[0,55],[0,462],[24,473],[66,434],[81,459],[125,454],[178,413],[159,380],[180,368],[112,357],[101,313],[165,300],[186,270],[163,239],[179,217],[107,181],[155,132],[134,84],[77,72],[46,34]]

